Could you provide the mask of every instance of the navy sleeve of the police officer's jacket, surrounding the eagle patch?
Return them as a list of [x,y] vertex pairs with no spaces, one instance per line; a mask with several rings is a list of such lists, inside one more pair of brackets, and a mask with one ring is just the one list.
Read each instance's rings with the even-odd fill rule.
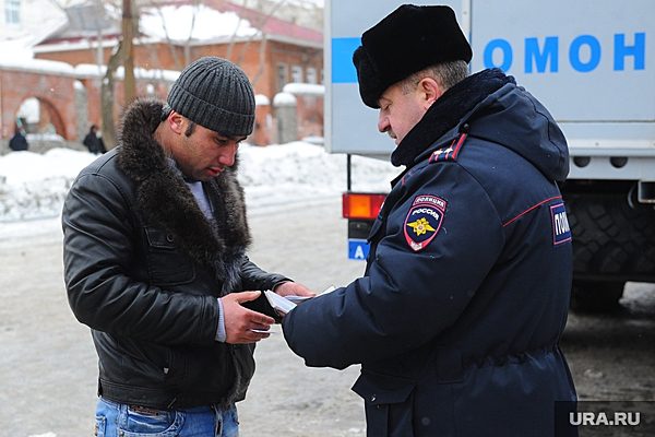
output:
[[[465,310],[501,250],[503,233],[477,181],[456,164],[444,167],[408,182],[407,196],[380,231],[366,276],[284,318],[285,339],[307,365],[345,368],[406,353],[432,341]],[[405,236],[417,196],[448,202],[441,228],[420,251]]]

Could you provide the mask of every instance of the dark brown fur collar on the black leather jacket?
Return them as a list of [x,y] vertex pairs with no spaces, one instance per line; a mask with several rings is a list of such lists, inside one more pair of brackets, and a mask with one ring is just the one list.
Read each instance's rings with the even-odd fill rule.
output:
[[224,284],[223,293],[228,293],[238,282],[250,244],[243,189],[235,168],[203,182],[214,206],[215,223],[211,223],[153,137],[162,107],[162,102],[142,99],[127,109],[119,134],[118,165],[136,186],[136,203],[144,218],[172,234],[180,250],[210,269]]

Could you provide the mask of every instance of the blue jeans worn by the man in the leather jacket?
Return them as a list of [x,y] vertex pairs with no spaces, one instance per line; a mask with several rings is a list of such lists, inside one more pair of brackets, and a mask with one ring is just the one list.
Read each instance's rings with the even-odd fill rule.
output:
[[97,437],[238,437],[237,408],[200,406],[154,410],[100,398],[96,406]]

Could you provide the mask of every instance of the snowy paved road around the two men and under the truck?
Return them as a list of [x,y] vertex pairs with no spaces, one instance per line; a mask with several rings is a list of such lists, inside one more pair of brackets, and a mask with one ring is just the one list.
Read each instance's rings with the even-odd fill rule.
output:
[[[364,263],[345,259],[340,215],[338,199],[253,211],[251,258],[317,291],[345,284]],[[92,435],[96,355],[66,302],[57,221],[0,225],[0,437]],[[655,400],[655,286],[630,284],[623,304],[570,317],[563,349],[582,399]],[[358,368],[306,368],[279,331],[255,355],[243,437],[365,435]]]

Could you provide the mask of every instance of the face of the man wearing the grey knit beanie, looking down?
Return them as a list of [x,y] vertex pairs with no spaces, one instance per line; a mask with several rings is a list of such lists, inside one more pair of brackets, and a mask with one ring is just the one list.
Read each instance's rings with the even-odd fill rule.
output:
[[181,118],[181,133],[170,147],[182,173],[196,180],[210,180],[235,164],[239,143],[246,137],[231,138]]

